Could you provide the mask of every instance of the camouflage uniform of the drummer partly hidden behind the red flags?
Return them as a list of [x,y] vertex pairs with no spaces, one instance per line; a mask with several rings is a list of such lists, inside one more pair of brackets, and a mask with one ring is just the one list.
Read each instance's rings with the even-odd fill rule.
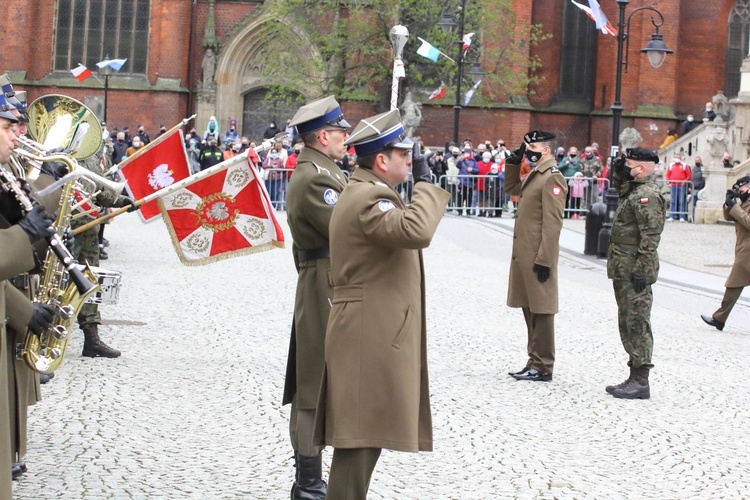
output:
[[[105,157],[108,158],[109,156],[111,156],[111,151],[109,154],[105,151]],[[90,156],[81,161],[80,165],[94,173],[104,175],[99,155]],[[119,193],[111,193],[106,189],[102,189],[101,192],[94,197],[93,201],[100,207],[121,207],[123,206],[124,200],[125,197]],[[75,230],[90,221],[90,217],[79,217],[78,219],[71,221],[70,227]],[[76,235],[73,255],[81,264],[87,262],[91,266],[99,265],[99,226],[94,226]],[[102,319],[99,315],[99,306],[88,302],[83,304],[78,313],[78,326],[83,329],[86,326],[101,324]]]

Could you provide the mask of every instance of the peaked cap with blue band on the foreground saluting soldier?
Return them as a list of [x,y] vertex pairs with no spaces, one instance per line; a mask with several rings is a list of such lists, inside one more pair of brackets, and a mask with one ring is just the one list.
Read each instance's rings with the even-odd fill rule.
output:
[[357,156],[365,156],[387,148],[412,149],[414,143],[404,135],[401,116],[397,109],[365,118],[346,141],[354,146]]

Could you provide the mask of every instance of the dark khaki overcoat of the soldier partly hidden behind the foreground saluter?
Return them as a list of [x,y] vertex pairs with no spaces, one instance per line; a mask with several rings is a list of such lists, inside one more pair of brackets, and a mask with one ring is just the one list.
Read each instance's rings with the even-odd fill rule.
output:
[[314,410],[318,403],[333,284],[330,258],[300,261],[299,252],[328,249],[328,224],[345,185],[346,175],[329,157],[305,146],[287,188],[297,291],[282,404],[297,394],[300,410]]

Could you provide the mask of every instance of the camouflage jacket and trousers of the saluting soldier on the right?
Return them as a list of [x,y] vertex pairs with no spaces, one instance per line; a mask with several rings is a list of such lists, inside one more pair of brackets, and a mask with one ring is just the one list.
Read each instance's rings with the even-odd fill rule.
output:
[[[607,277],[612,281],[617,301],[620,339],[630,356],[628,366],[653,368],[651,354],[651,285],[659,275],[656,251],[664,229],[666,205],[654,176],[623,181],[613,176],[613,186],[620,194],[607,255]],[[646,288],[636,293],[632,275],[646,278]]]

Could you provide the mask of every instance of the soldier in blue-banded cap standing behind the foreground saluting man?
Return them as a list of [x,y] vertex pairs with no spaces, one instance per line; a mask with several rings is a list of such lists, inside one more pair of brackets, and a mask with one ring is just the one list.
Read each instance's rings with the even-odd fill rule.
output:
[[333,96],[302,106],[291,121],[305,147],[287,188],[287,221],[297,268],[297,291],[283,404],[292,405],[289,434],[297,468],[292,498],[325,498],[323,446],[313,425],[323,374],[325,332],[333,288],[328,223],[346,175],[336,165],[346,154],[349,123]]

